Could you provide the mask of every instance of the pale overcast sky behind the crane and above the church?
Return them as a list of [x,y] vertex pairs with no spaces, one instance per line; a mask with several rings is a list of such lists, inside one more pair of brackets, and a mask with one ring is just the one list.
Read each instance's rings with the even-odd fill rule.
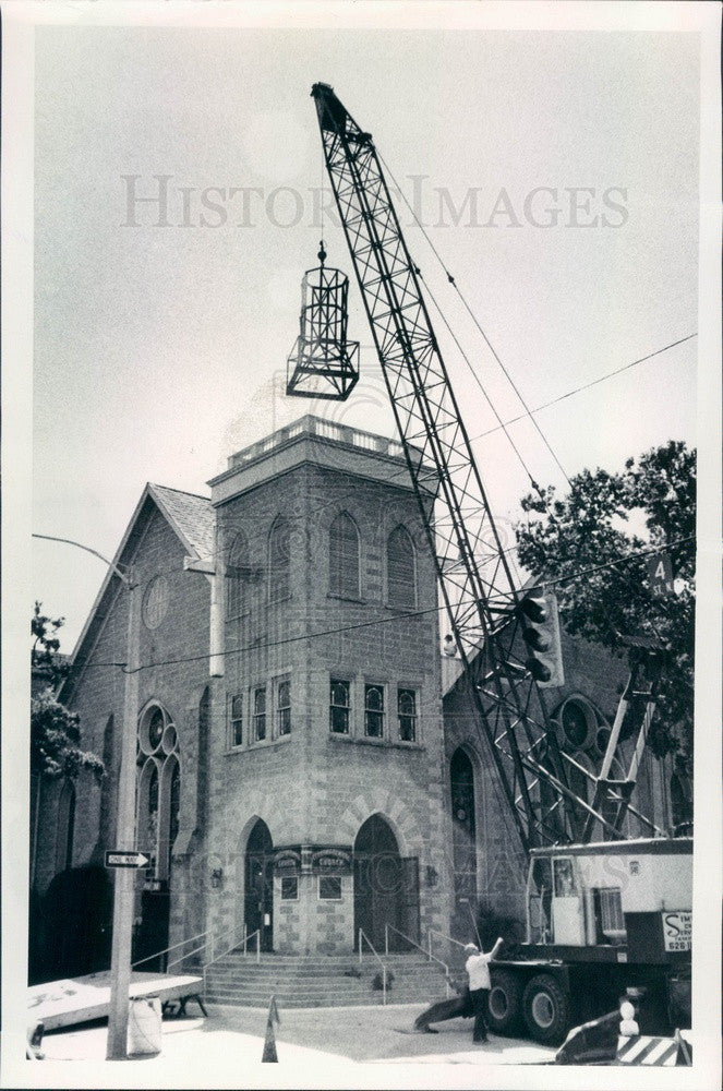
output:
[[[694,34],[39,27],[34,530],[112,555],[146,481],[203,493],[232,452],[304,412],[393,434],[356,285],[358,391],[332,407],[282,394],[318,249],[318,80],[417,201],[530,407],[697,329]],[[158,203],[132,200],[159,185],[167,226]],[[409,219],[477,375],[503,419],[518,416]],[[328,264],[352,274],[328,218],[324,236]],[[438,326],[478,435],[494,416]],[[692,339],[537,419],[569,475],[695,444],[696,364]],[[510,433],[539,481],[563,484],[529,421]],[[522,467],[499,431],[474,447],[495,511],[514,518]],[[63,650],[103,576],[35,543],[34,594],[65,615]]]

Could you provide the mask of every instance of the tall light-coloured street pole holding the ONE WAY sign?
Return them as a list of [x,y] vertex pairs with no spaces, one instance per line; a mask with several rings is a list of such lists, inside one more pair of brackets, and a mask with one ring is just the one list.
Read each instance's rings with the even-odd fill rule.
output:
[[[135,734],[138,717],[140,610],[137,584],[129,565],[123,578],[128,590],[128,651],[116,843],[132,852],[135,848]],[[113,939],[110,960],[110,1008],[108,1010],[108,1060],[124,1059],[128,1053],[128,1006],[131,985],[131,939],[135,870],[116,872],[113,892]]]

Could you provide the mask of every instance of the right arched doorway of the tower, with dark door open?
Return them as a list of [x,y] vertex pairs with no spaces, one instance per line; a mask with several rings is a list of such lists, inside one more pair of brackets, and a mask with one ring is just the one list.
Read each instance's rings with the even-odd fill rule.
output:
[[399,932],[419,939],[419,867],[415,856],[400,856],[391,827],[376,814],[362,824],[354,840],[354,946],[362,928],[382,950],[387,924],[390,949],[409,947]]

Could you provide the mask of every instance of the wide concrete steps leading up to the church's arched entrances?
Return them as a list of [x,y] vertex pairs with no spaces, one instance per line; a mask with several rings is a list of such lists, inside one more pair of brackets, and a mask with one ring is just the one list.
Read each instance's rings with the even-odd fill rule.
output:
[[[382,956],[387,968],[387,1004],[429,1004],[444,998],[444,971],[421,951]],[[291,956],[231,951],[206,970],[208,1004],[265,1008],[272,993],[289,1008],[382,1004],[377,960],[359,956]]]

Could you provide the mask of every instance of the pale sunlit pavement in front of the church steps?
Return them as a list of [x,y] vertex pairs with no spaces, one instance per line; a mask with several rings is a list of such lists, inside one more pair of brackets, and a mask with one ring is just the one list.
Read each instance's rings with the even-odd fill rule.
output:
[[[279,1065],[323,1071],[329,1063],[370,1064],[534,1065],[550,1063],[554,1050],[519,1039],[492,1035],[486,1045],[472,1045],[472,1021],[454,1019],[438,1024],[436,1034],[408,1033],[424,1005],[388,1005],[354,1008],[281,1009],[275,1028]],[[208,1019],[165,1019],[162,1050],[134,1058],[143,1071],[160,1075],[165,1060],[173,1067],[213,1068],[216,1078],[232,1065],[261,1062],[266,1011],[257,1008],[209,1008]],[[105,1059],[107,1024],[65,1028],[46,1034],[43,1050],[48,1060]],[[280,1074],[279,1074],[280,1075]],[[141,1072],[138,1072],[141,1076]],[[222,1077],[221,1077],[222,1078]],[[214,1081],[216,1082],[216,1081]],[[232,1084],[231,1084],[232,1086]]]

